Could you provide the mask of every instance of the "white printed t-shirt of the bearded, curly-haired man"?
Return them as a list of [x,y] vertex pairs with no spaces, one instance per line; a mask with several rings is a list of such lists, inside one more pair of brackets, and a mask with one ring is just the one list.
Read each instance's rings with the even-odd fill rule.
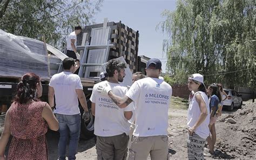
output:
[[124,116],[124,112],[134,110],[133,103],[125,108],[119,108],[109,96],[97,92],[99,85],[105,86],[108,83],[112,92],[118,96],[124,96],[127,87],[122,84],[113,84],[107,81],[99,82],[93,86],[91,102],[95,103],[94,133],[97,136],[107,137],[125,133],[129,135],[130,123]]

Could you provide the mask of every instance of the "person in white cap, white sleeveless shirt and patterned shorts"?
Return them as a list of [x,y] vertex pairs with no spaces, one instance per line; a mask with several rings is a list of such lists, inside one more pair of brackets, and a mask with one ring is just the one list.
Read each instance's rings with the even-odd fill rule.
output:
[[204,159],[204,145],[210,134],[210,107],[203,75],[190,75],[187,87],[194,92],[187,112],[187,155],[188,159]]

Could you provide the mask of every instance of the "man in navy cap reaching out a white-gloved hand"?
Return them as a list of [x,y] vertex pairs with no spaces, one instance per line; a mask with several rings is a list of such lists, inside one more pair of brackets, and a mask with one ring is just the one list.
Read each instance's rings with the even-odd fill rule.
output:
[[120,108],[135,103],[135,129],[129,159],[167,159],[168,109],[172,87],[159,79],[161,61],[152,58],[146,65],[147,78],[135,81],[125,96],[117,96],[110,86],[99,86],[97,91],[109,95]]

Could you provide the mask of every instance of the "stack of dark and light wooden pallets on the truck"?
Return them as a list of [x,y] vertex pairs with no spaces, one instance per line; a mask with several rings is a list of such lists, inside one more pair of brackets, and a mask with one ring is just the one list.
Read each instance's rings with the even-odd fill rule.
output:
[[[82,34],[77,36],[77,45],[82,44],[83,33],[87,33],[86,42],[90,44],[91,29],[100,27],[103,27],[103,23],[85,26],[82,30]],[[108,60],[123,56],[131,72],[137,72],[139,31],[134,31],[130,27],[122,24],[121,21],[119,23],[108,22],[107,27],[111,27],[110,40],[111,44],[114,45],[114,47],[110,49]]]

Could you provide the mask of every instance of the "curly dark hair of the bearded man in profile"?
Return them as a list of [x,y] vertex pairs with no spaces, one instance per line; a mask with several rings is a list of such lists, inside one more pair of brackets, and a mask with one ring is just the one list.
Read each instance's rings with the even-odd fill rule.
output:
[[126,68],[125,62],[119,61],[117,59],[111,59],[109,62],[107,62],[106,72],[109,77],[112,77],[115,70],[117,70],[117,72],[120,72],[120,70],[123,68]]

